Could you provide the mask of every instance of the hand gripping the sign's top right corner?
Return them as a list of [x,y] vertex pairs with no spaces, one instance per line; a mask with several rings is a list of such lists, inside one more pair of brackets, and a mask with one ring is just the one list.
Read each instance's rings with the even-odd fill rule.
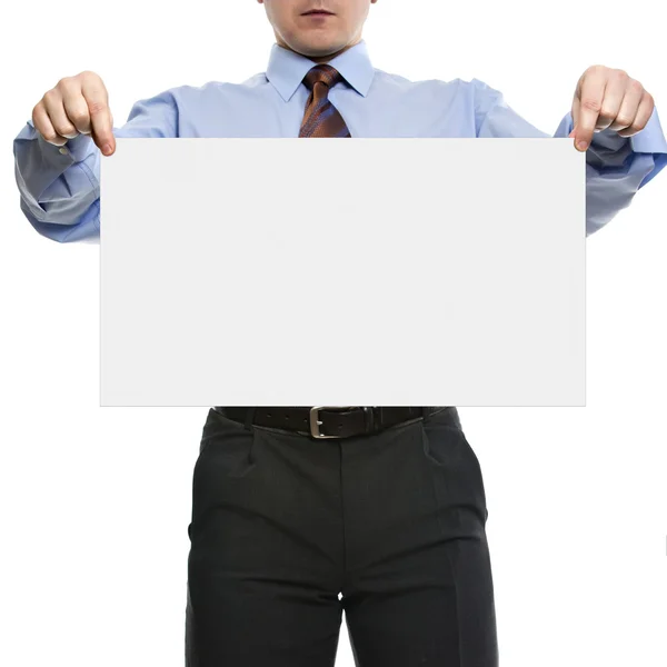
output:
[[584,151],[593,133],[607,128],[620,137],[631,137],[646,127],[654,107],[653,96],[624,70],[594,64],[577,83],[569,138],[574,137],[575,147]]

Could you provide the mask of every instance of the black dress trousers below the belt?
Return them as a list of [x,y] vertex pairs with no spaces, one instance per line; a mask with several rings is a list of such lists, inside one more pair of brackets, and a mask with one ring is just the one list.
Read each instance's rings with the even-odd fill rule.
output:
[[316,440],[209,411],[187,667],[496,667],[484,481],[456,408]]

